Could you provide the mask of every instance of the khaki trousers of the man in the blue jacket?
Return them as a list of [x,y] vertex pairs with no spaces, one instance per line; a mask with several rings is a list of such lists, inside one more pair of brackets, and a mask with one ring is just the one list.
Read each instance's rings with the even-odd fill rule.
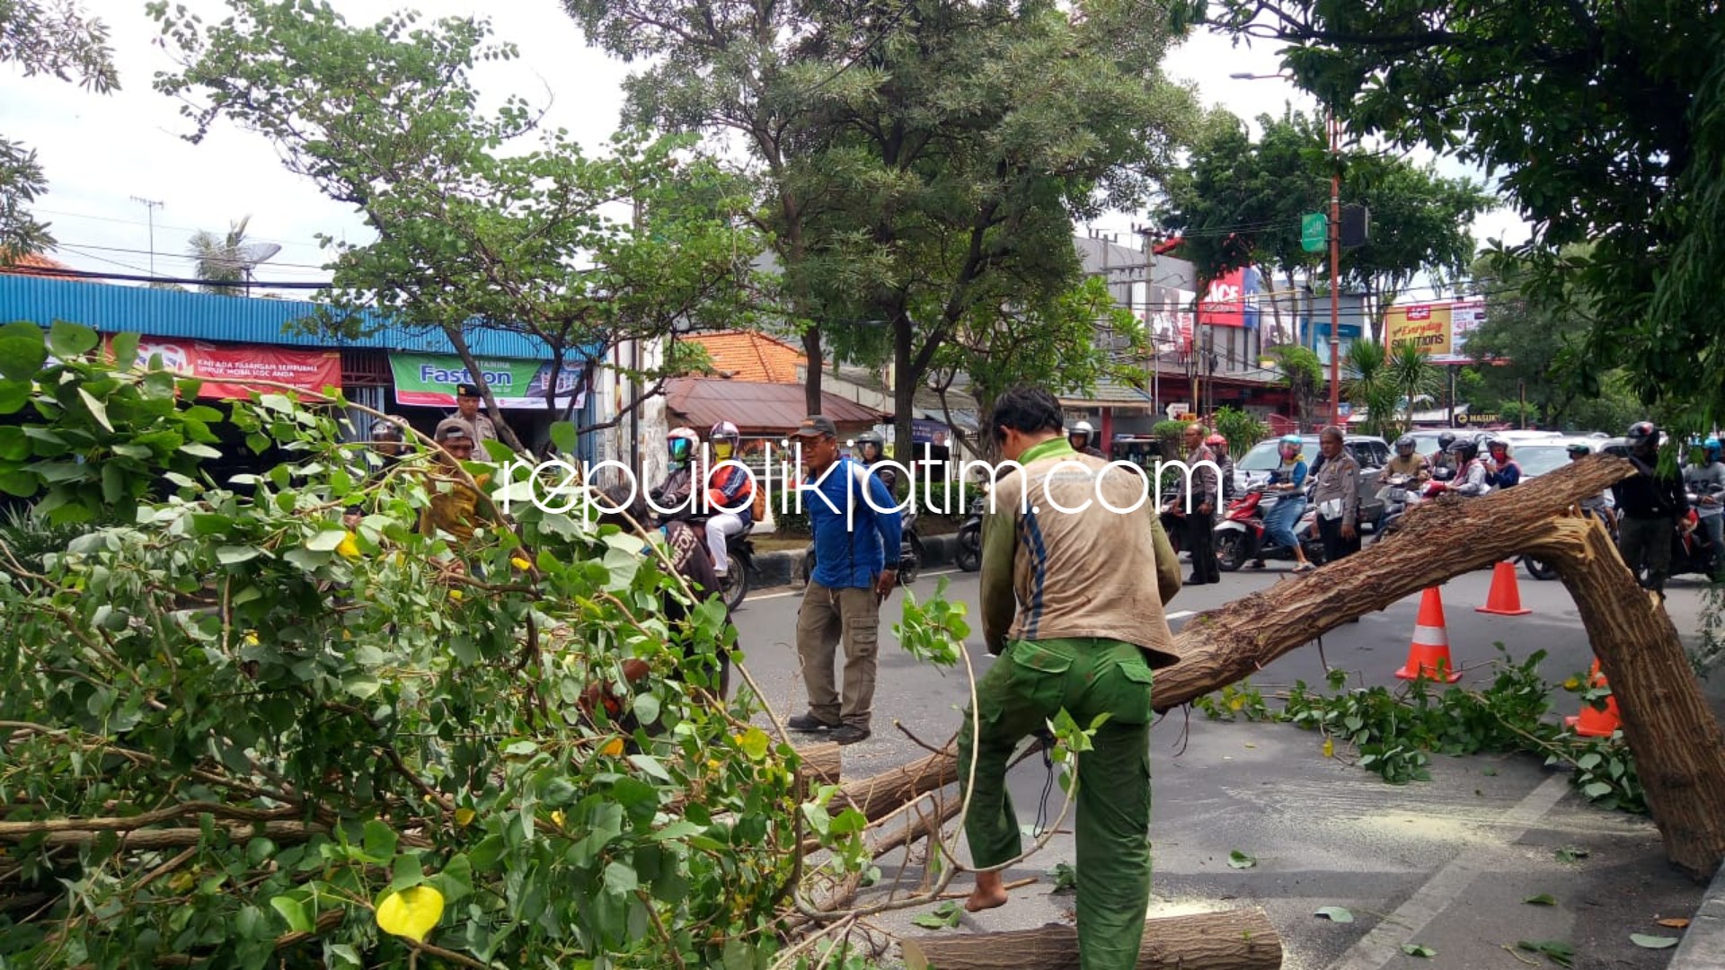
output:
[[[871,589],[828,589],[809,580],[797,611],[797,659],[809,713],[821,721],[868,728],[880,647],[880,597]],[[845,646],[844,697],[833,689],[833,659]]]

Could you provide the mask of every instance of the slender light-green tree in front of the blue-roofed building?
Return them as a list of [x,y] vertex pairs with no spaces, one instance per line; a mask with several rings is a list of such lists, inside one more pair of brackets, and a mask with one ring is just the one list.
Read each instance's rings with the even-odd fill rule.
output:
[[[547,387],[559,388],[623,342],[747,319],[759,247],[735,217],[747,200],[733,181],[673,140],[618,136],[609,155],[588,157],[519,98],[481,114],[473,64],[514,55],[488,40],[488,22],[421,26],[404,14],[354,28],[328,5],[228,7],[229,19],[204,24],[152,5],[183,54],[183,71],[155,85],[188,98],[193,142],[221,117],[254,129],[378,233],[366,245],[324,240],[336,255],[323,326],[352,331],[362,319],[352,311],[376,309],[440,330],[474,375],[473,330],[519,333],[545,349]],[[545,395],[554,418],[571,406],[573,395]],[[499,430],[514,438],[507,423]]]

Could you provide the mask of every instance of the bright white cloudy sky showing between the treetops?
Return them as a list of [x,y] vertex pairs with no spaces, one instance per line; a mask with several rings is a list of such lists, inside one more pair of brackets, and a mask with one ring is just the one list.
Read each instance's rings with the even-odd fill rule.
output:
[[[183,0],[205,19],[221,19],[217,0]],[[95,95],[48,78],[22,78],[16,66],[0,66],[0,131],[38,152],[50,190],[36,204],[50,221],[60,249],[57,259],[91,271],[186,276],[186,238],[197,230],[224,231],[229,221],[250,216],[248,238],[281,243],[281,252],[259,280],[326,280],[317,233],[364,242],[369,231],[350,207],[324,198],[305,180],[290,174],[259,135],[231,124],[217,126],[202,145],[183,135],[190,121],[179,104],[155,93],[157,71],[174,67],[157,41],[159,31],[141,0],[85,0],[85,7],[110,28],[122,88]],[[585,145],[597,147],[616,126],[619,81],[628,67],[586,47],[574,22],[555,0],[335,0],[348,22],[373,22],[411,7],[431,17],[483,14],[497,36],[514,41],[521,57],[483,64],[476,85],[486,100],[518,93],[536,105],[549,104],[547,123],[568,128]],[[1168,60],[1168,72],[1197,86],[1206,104],[1220,104],[1242,117],[1278,114],[1285,102],[1311,110],[1313,102],[1280,79],[1235,81],[1228,74],[1275,74],[1273,47],[1235,47],[1228,38],[1197,35]],[[1442,164],[1446,174],[1466,169]],[[1477,173],[1475,173],[1477,176]],[[145,205],[140,198],[160,202]],[[150,217],[154,214],[154,242]],[[1130,212],[1094,224],[1097,231],[1130,238]],[[1085,228],[1080,228],[1083,231]],[[1475,224],[1480,240],[1511,242],[1527,226],[1509,211],[1492,212]]]

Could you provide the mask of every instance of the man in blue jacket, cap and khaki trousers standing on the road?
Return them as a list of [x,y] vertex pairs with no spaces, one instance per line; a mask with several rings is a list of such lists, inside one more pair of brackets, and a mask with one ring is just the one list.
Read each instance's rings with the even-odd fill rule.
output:
[[[799,485],[814,533],[814,575],[797,611],[797,659],[809,713],[790,730],[828,732],[856,744],[869,735],[880,604],[899,582],[897,501],[880,478],[838,454],[838,428],[826,416],[804,418],[792,431],[809,478]],[[844,697],[833,689],[833,659],[845,644]]]

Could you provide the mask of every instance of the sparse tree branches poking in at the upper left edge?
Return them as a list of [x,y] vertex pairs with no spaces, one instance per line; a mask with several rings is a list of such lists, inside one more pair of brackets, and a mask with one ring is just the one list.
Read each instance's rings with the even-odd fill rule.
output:
[[[0,64],[17,64],[26,78],[76,79],[98,93],[119,88],[107,26],[72,2],[0,2]],[[0,136],[0,264],[53,247],[48,226],[29,214],[29,204],[47,190],[36,152]]]

